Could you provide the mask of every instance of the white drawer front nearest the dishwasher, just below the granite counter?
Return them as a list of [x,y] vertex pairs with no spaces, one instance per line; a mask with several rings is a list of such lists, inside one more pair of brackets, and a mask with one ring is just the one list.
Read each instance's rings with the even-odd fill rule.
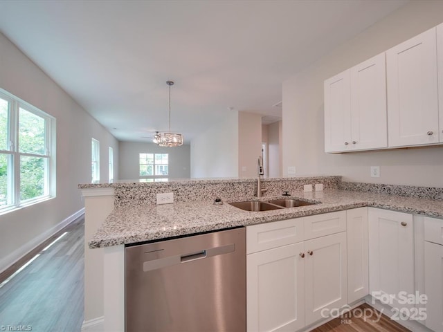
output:
[[246,227],[246,254],[303,241],[302,219],[288,219]]

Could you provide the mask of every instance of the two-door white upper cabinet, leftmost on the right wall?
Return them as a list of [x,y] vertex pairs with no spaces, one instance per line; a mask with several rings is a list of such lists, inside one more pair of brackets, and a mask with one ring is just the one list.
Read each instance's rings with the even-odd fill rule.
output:
[[325,151],[387,147],[386,60],[381,53],[325,80]]

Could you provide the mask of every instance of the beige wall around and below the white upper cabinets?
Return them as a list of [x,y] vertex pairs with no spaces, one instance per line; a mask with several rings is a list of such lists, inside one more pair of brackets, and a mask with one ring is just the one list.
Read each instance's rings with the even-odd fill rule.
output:
[[[283,83],[283,174],[443,187],[443,147],[325,154],[323,81],[443,22],[443,1],[410,1]],[[370,166],[380,166],[379,178]]]

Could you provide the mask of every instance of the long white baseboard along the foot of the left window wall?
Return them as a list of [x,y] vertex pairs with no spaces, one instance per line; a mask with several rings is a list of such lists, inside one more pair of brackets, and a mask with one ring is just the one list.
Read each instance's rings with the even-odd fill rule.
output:
[[69,225],[73,221],[75,221],[75,219],[78,219],[83,214],[84,214],[84,208],[78,210],[74,214],[71,214],[71,216],[68,216],[63,221],[60,221],[60,223],[57,223],[57,225],[46,230],[46,232],[40,234],[38,237],[35,237],[33,240],[27,242],[23,246],[17,248],[13,252],[11,252],[8,256],[1,258],[0,259],[0,273],[2,273],[4,270],[6,270],[8,267],[10,267],[12,264],[14,264],[16,261],[18,261],[19,259],[24,257],[26,254],[28,254],[28,252],[34,250],[37,246],[39,246],[46,239],[49,239],[50,237],[52,237],[59,230],[66,227],[67,225]]

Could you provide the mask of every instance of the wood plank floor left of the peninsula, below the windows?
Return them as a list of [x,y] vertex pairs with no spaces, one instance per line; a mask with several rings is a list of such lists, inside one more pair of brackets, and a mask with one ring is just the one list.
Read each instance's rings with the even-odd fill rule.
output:
[[[84,219],[57,235],[63,232],[68,233],[47,250],[42,251],[57,236],[39,246],[32,255],[39,256],[1,286],[2,331],[80,331],[84,311]],[[32,258],[29,256],[28,260]],[[0,284],[24,263],[20,261],[2,273]]]

